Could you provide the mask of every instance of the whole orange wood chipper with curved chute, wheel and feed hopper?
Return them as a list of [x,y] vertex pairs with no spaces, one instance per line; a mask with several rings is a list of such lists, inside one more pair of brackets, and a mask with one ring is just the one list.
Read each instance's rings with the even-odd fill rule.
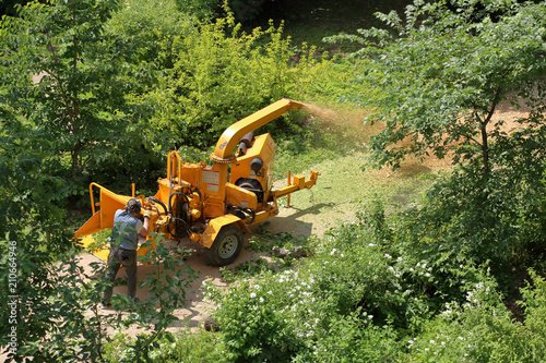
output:
[[[241,251],[242,235],[250,232],[249,226],[276,216],[280,197],[289,197],[290,193],[310,189],[317,182],[316,171],[311,171],[309,180],[288,173],[287,185],[273,190],[276,145],[270,134],[253,135],[258,128],[301,106],[281,99],[234,123],[224,131],[211,154],[212,166],[185,162],[177,152],[171,152],[167,176],[159,178],[159,190],[154,196],[135,196],[134,184],[133,195],[128,196],[92,183],[93,217],[75,233],[79,243],[85,247],[92,244],[97,232],[114,226],[116,210],[135,197],[144,209],[153,211],[151,232],[178,241],[189,238],[209,249],[212,264],[230,264]],[[97,190],[99,202],[95,204],[93,192]],[[147,238],[153,240],[153,235]],[[155,246],[154,241],[150,245]],[[108,247],[94,253],[108,258]],[[145,253],[145,247],[139,249],[139,255]]]

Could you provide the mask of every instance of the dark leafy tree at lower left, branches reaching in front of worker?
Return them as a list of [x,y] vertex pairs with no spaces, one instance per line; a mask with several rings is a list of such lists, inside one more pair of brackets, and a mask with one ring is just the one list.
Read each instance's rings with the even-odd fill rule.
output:
[[[103,266],[95,263],[90,274],[79,263],[81,251],[71,240],[73,230],[67,229],[70,220],[58,206],[69,186],[47,173],[51,141],[15,114],[0,108],[0,346],[15,362],[146,358],[156,340],[170,339],[165,329],[177,319],[174,310],[185,305],[193,273],[180,268],[183,252],[170,253],[157,235],[157,249],[141,257],[154,266],[141,281],[151,299],[132,306],[127,298],[115,297],[115,305],[133,312],[129,316],[123,310],[100,311],[102,289],[108,282],[99,278]],[[150,334],[123,341],[124,352],[108,353],[116,346],[108,329],[135,325]]]

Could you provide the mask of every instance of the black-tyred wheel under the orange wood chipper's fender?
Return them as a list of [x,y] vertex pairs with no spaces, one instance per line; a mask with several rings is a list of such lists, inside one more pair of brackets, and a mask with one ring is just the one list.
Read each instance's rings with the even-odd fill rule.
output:
[[223,227],[209,250],[211,264],[225,266],[233,263],[242,249],[242,231],[238,227],[234,225]]

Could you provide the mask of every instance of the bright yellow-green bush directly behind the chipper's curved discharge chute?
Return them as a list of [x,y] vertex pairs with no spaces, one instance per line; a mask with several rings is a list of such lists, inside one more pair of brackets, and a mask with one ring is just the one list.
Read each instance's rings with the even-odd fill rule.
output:
[[[242,33],[232,15],[202,24],[175,43],[174,70],[149,96],[162,105],[151,125],[177,135],[178,145],[214,146],[239,119],[293,95],[296,71],[288,64],[288,45],[282,26],[273,24],[251,34]],[[280,118],[263,129],[289,135],[300,125]]]

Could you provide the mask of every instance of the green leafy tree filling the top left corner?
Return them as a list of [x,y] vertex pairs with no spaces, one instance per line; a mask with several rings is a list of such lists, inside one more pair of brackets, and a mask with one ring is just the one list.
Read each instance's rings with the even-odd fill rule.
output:
[[1,23],[1,101],[51,141],[54,157],[69,155],[74,178],[123,142],[135,112],[126,94],[147,75],[104,31],[119,3],[31,2]]

